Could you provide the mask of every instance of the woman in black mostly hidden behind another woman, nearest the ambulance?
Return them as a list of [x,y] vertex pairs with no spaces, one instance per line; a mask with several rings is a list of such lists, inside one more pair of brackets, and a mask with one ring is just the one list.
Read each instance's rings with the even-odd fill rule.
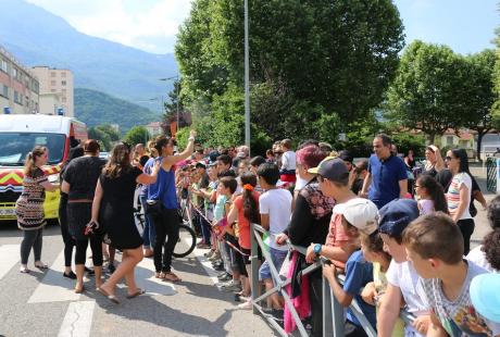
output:
[[[76,158],[84,155],[84,148],[77,146],[70,150],[70,154],[66,163],[61,168],[60,180],[64,180],[64,173],[66,172],[67,165]],[[67,227],[67,194],[61,191],[61,199],[59,201],[59,224],[61,225],[61,235],[64,241],[64,273],[63,276],[76,279],[76,274],[71,269],[71,259],[73,257],[73,247],[75,247],[75,240],[70,235],[70,228]]]

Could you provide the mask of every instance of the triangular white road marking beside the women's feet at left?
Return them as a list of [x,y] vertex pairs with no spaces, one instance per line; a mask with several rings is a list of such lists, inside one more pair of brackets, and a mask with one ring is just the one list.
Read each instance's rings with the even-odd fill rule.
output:
[[76,280],[63,277],[63,272],[64,250],[47,271],[46,276],[28,299],[28,303],[77,301],[80,295],[74,291]]

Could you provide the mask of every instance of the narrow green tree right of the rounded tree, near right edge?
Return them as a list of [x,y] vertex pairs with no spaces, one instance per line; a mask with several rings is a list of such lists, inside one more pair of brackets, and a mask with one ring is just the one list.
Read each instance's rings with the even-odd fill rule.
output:
[[477,132],[477,159],[480,160],[483,137],[493,129],[491,108],[496,100],[493,85],[495,51],[486,49],[466,57],[467,76],[463,83],[466,95],[460,97],[468,113],[462,124]]

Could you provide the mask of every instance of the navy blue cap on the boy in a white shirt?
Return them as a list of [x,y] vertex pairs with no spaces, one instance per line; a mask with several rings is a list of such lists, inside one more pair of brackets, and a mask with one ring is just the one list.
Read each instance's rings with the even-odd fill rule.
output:
[[399,236],[418,217],[418,207],[413,199],[396,199],[378,211],[378,232],[391,237]]

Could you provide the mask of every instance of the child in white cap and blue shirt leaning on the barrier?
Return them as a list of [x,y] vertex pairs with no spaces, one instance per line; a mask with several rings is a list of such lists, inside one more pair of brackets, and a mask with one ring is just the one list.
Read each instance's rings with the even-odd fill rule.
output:
[[[336,210],[335,210],[336,209]],[[342,216],[342,226],[347,236],[359,238],[360,234],[371,235],[377,230],[376,217],[378,209],[372,201],[354,198],[346,203],[335,207],[337,214]],[[337,301],[348,308],[355,298],[372,327],[375,328],[375,307],[367,304],[360,296],[361,289],[373,280],[372,264],[366,262],[361,250],[354,251],[346,262],[346,279],[343,287],[337,280],[336,267],[333,264],[323,266],[323,275],[332,287]],[[346,336],[366,336],[363,326],[358,321],[351,309],[347,310],[345,326]]]

